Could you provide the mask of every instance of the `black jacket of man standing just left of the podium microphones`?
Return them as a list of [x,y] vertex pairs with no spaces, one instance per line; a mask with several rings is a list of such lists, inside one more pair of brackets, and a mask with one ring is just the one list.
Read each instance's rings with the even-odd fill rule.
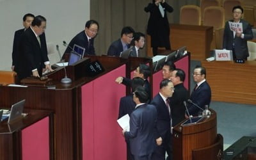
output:
[[189,92],[184,87],[183,83],[174,86],[175,91],[170,97],[170,107],[172,113],[172,126],[179,124],[185,119],[186,107],[184,106],[184,101],[188,101]]

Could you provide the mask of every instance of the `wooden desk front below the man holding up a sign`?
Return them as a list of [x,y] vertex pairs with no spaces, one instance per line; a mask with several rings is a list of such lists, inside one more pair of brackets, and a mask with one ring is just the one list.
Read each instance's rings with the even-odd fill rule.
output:
[[256,61],[202,61],[212,100],[256,104]]

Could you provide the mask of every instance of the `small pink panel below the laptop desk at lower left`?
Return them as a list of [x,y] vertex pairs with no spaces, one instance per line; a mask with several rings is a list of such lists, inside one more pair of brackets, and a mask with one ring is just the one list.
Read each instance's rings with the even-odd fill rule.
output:
[[21,137],[22,159],[50,159],[49,117],[22,129]]

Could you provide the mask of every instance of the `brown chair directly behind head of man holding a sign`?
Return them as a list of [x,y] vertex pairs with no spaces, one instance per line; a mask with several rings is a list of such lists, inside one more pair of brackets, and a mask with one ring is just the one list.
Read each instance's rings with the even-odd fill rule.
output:
[[239,0],[223,0],[222,4],[225,10],[225,21],[233,19],[232,8],[234,6],[241,6],[241,1]]

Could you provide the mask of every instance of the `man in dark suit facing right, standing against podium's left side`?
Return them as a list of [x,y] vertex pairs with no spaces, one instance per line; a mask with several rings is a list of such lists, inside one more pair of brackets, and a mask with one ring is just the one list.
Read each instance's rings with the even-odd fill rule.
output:
[[165,152],[169,159],[172,159],[172,143],[171,143],[171,127],[172,117],[169,97],[174,92],[173,83],[169,79],[163,79],[160,83],[160,92],[152,99],[150,104],[156,106],[157,109],[157,142],[163,143],[154,150],[152,160],[164,160]]

